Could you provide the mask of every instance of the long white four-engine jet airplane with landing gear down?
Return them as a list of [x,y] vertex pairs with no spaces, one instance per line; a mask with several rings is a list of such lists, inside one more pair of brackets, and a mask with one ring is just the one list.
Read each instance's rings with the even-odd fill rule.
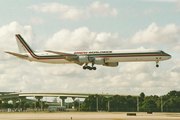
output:
[[[94,67],[95,64],[108,67],[117,67],[119,62],[155,61],[156,67],[159,67],[159,61],[164,61],[171,58],[171,55],[162,50],[156,49],[92,50],[73,52],[45,50],[45,52],[38,53],[31,49],[20,34],[16,34],[15,37],[20,53],[9,51],[5,51],[5,53],[35,62],[52,64],[75,63],[81,66],[84,65],[84,70],[96,70],[96,67]],[[88,66],[88,64],[92,64],[92,66]]]

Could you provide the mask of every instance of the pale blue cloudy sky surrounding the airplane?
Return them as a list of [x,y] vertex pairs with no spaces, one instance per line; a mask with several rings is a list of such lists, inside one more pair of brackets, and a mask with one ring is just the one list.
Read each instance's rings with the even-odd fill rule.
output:
[[[0,91],[164,95],[180,87],[178,0],[1,0]],[[18,59],[15,34],[37,51],[161,49],[168,61],[118,67]]]

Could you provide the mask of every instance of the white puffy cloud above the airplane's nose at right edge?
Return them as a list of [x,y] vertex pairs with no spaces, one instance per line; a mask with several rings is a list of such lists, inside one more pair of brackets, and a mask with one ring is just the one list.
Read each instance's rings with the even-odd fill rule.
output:
[[158,27],[152,23],[147,29],[138,31],[131,38],[132,44],[174,44],[180,40],[180,27],[168,24]]

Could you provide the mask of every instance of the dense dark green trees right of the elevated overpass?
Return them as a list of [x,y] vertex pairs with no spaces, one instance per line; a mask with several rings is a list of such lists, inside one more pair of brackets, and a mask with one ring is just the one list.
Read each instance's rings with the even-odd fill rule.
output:
[[[140,96],[119,96],[115,95],[110,98],[103,96],[91,95],[84,100],[80,105],[82,111],[97,111],[97,97],[98,97],[98,110],[108,111],[108,100],[110,111],[133,111],[136,112],[137,101],[139,101],[140,112],[180,112],[180,91],[170,91],[166,95],[145,96],[142,92]],[[162,103],[162,104],[161,104]],[[74,102],[75,108],[79,109],[79,103]]]

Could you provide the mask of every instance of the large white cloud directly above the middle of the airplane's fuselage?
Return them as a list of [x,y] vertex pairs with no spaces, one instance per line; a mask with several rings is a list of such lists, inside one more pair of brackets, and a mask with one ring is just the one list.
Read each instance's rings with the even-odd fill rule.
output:
[[77,28],[74,31],[62,29],[49,38],[44,47],[58,50],[112,49],[116,46],[117,38],[117,33],[96,33],[87,27]]

